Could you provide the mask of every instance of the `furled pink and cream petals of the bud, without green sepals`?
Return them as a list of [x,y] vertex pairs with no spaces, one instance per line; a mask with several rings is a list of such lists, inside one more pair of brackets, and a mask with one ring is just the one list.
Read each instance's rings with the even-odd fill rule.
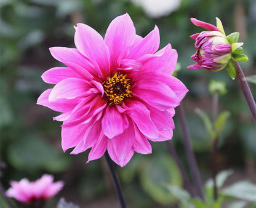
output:
[[196,40],[196,54],[191,58],[197,63],[187,68],[210,71],[220,71],[226,67],[231,58],[232,47],[225,33],[223,34],[216,26],[191,18],[196,26],[201,26],[209,31],[202,31],[190,36]]

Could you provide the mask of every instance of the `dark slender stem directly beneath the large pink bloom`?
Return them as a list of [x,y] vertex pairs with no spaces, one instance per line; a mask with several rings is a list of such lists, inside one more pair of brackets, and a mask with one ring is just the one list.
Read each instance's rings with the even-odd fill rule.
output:
[[114,170],[113,162],[107,151],[104,155],[105,155],[106,163],[108,164],[108,169],[110,169],[110,173],[114,182],[114,186],[116,188],[116,193],[118,194],[118,199],[119,199],[121,208],[126,208],[126,202],[124,201],[124,195],[122,194],[122,188],[119,183],[118,176],[116,175],[116,171]]

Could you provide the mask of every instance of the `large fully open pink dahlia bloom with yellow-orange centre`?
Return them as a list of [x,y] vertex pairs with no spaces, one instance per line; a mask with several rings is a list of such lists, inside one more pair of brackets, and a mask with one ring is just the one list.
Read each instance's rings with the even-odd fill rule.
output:
[[78,154],[92,148],[88,161],[102,157],[125,166],[134,154],[150,154],[148,140],[172,138],[174,108],[188,89],[171,76],[177,52],[168,44],[159,47],[155,26],[145,38],[135,33],[128,14],[116,17],[105,39],[79,23],[76,49],[52,47],[54,58],[66,67],[55,67],[42,79],[56,84],[38,98],[38,104],[62,112],[62,148]]

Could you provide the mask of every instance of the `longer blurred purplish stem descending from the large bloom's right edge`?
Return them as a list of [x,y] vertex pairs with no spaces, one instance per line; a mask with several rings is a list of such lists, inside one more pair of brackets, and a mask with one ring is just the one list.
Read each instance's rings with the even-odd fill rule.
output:
[[198,171],[198,165],[196,164],[196,158],[191,147],[190,135],[188,134],[188,128],[186,127],[185,114],[182,103],[180,103],[180,106],[177,107],[177,111],[178,119],[180,120],[180,126],[182,127],[186,158],[188,159],[188,165],[190,166],[191,175],[194,178],[196,190],[198,191],[199,197],[204,200],[204,194],[202,192],[202,182]]

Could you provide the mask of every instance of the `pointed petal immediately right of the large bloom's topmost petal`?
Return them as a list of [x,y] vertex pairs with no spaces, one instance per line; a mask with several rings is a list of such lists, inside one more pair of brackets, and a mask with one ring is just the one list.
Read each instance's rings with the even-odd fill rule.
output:
[[145,38],[130,52],[128,58],[136,60],[145,54],[154,54],[159,48],[160,37],[158,27],[155,26]]

